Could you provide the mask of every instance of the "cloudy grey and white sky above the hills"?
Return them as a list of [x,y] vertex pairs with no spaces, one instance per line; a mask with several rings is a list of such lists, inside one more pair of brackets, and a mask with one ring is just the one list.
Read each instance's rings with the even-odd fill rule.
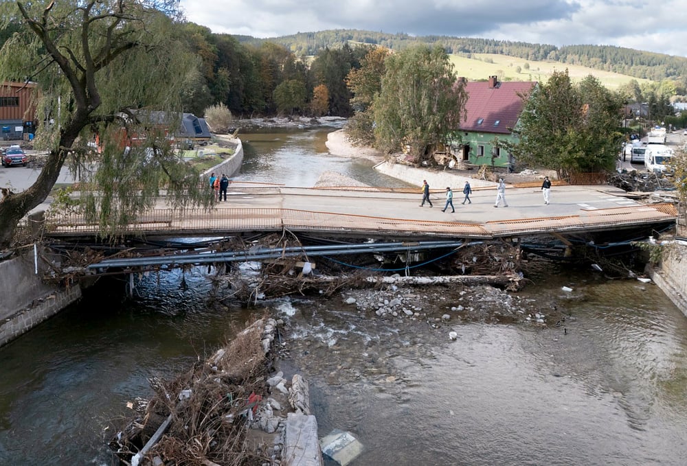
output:
[[212,32],[277,37],[358,29],[617,45],[687,56],[684,0],[181,0]]

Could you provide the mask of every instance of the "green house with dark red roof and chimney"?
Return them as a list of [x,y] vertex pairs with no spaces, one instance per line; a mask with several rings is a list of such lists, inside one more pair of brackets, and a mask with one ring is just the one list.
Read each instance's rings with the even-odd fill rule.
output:
[[508,167],[514,163],[499,141],[516,141],[513,128],[523,109],[521,95],[529,95],[536,82],[499,82],[496,76],[488,81],[466,82],[468,99],[466,117],[460,125],[460,142],[453,144],[459,159],[473,165]]

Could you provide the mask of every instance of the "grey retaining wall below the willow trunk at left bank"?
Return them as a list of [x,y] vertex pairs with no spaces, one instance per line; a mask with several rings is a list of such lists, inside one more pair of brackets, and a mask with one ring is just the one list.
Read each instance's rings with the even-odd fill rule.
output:
[[43,283],[48,266],[33,251],[0,262],[0,346],[54,316],[81,297],[78,285],[67,290]]

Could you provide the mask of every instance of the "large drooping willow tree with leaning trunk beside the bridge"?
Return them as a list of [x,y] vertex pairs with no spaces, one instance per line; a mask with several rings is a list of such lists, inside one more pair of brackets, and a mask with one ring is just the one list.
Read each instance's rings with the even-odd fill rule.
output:
[[0,202],[0,246],[67,161],[84,213],[103,233],[163,190],[174,208],[210,202],[167,137],[179,128],[183,80],[196,66],[177,35],[177,12],[177,1],[164,0],[0,2],[3,27],[22,25],[0,51],[0,81],[38,83],[35,144],[47,150],[35,183]]

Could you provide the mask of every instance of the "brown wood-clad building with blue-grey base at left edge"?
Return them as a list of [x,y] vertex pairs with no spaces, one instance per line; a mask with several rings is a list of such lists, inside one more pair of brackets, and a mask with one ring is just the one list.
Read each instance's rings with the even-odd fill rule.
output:
[[0,137],[4,141],[29,139],[27,135],[34,134],[36,89],[34,82],[0,84]]

